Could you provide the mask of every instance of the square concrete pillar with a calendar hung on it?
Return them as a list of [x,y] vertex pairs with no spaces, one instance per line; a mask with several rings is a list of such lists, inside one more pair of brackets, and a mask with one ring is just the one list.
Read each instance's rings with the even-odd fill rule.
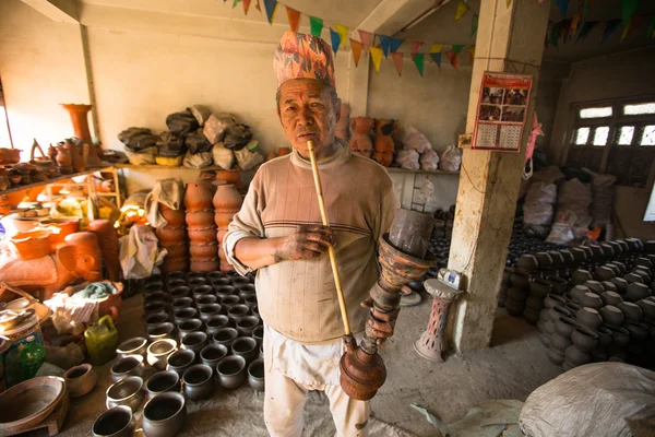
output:
[[476,59],[466,120],[473,133],[485,71],[533,74],[521,153],[464,150],[449,268],[466,276],[467,293],[454,308],[451,329],[458,352],[489,345],[498,292],[529,137],[550,0],[481,2]]

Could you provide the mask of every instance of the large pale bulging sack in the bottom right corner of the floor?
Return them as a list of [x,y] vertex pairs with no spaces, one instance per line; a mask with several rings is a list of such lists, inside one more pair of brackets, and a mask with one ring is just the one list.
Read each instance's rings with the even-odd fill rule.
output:
[[[575,367],[525,401],[519,426],[529,437],[632,436],[628,422],[651,418],[655,435],[655,373],[623,363]],[[636,434],[635,434],[636,435]]]

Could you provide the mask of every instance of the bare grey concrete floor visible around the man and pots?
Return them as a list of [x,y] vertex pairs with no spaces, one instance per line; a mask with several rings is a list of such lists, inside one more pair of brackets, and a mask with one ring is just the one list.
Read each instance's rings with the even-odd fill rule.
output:
[[[141,296],[135,296],[123,304],[118,323],[121,340],[143,334],[141,303]],[[561,373],[548,361],[536,329],[502,309],[497,314],[492,347],[453,355],[442,364],[419,358],[413,342],[426,328],[429,311],[427,298],[419,306],[404,308],[395,335],[381,350],[388,379],[372,400],[371,436],[438,436],[439,432],[410,403],[450,423],[487,399],[524,401],[535,388]],[[88,435],[93,422],[105,410],[105,391],[110,385],[108,369],[109,365],[99,367],[97,387],[84,398],[72,400],[62,436]],[[201,403],[189,402],[182,436],[265,436],[262,402],[263,395],[248,386],[234,392],[217,392]],[[334,435],[327,401],[322,394],[310,393],[306,423],[307,436]]]

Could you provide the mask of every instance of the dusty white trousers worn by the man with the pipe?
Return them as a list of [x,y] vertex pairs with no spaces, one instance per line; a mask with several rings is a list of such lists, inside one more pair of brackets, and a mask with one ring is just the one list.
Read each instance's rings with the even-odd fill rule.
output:
[[302,411],[310,390],[325,392],[338,437],[368,436],[369,401],[350,399],[341,386],[298,383],[272,365],[269,351],[264,345],[264,421],[272,437],[301,437]]

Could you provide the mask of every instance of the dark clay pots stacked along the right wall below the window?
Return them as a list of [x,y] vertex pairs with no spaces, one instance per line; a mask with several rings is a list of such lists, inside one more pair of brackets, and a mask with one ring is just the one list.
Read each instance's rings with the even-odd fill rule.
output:
[[550,283],[537,329],[553,364],[568,370],[608,359],[640,366],[655,363],[652,249],[645,251],[635,238],[580,246],[560,251],[565,264],[576,268],[569,277],[561,274],[563,269],[557,276],[531,274],[531,281],[545,288]]

